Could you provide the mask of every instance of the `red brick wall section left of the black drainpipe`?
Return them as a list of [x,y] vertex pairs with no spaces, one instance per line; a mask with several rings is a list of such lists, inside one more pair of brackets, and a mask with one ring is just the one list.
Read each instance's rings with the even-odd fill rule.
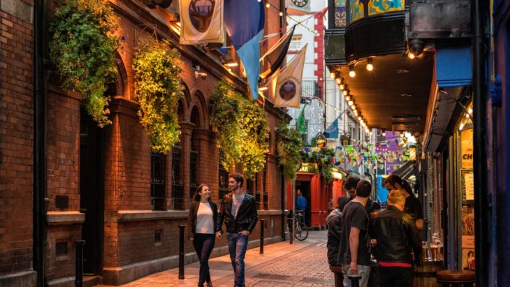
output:
[[31,269],[33,47],[32,24],[0,10],[0,274]]

